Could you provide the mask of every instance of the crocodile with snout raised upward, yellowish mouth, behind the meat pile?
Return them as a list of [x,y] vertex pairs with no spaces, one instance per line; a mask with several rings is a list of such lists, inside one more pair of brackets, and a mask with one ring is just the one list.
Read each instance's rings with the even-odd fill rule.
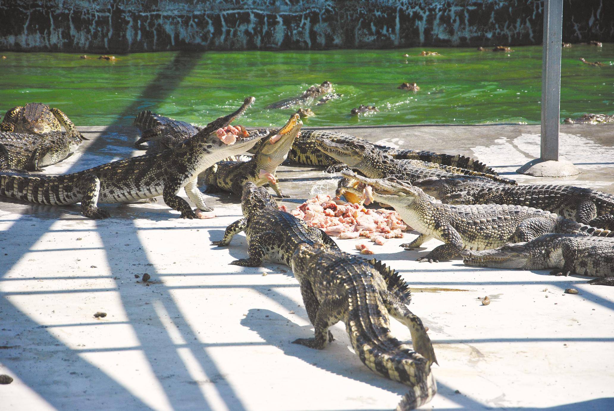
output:
[[294,113],[279,131],[263,129],[263,134],[271,134],[273,137],[258,144],[257,151],[249,161],[222,161],[214,164],[200,175],[200,182],[208,186],[208,192],[222,189],[235,194],[241,194],[243,184],[247,181],[257,186],[268,183],[279,197],[287,197],[281,192],[275,172],[286,160],[301,126],[303,121]]

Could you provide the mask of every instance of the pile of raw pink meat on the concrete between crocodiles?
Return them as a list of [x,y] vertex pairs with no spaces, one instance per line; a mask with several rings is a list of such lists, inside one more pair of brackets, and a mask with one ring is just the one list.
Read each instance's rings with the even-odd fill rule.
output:
[[[279,208],[287,212],[286,206]],[[343,202],[327,194],[318,194],[290,213],[305,220],[309,226],[320,228],[341,240],[365,237],[383,245],[387,239],[403,238],[403,231],[408,229],[395,210],[365,209],[361,204]],[[359,244],[356,248],[363,254],[373,253],[366,244]]]

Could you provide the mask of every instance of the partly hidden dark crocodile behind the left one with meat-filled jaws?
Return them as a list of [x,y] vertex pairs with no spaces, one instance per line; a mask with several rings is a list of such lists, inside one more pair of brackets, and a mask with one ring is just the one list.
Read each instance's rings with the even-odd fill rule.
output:
[[183,140],[198,133],[201,129],[185,121],[152,113],[151,110],[140,112],[134,118],[133,126],[142,131],[141,138],[136,140],[134,147],[140,149],[141,144],[145,142],[157,141],[160,150],[175,147]]

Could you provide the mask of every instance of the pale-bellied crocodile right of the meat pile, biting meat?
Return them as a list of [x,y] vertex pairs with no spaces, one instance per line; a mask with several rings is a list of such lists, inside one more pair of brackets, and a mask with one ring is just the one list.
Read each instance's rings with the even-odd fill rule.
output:
[[[529,241],[548,232],[614,236],[612,231],[532,207],[508,204],[451,206],[402,180],[368,179],[351,171],[343,171],[342,174],[348,179],[370,185],[375,201],[394,207],[403,221],[420,233],[417,239],[402,244],[402,247],[420,247],[432,238],[445,243],[418,258],[418,261],[438,262],[458,255],[465,248],[488,250],[508,242]],[[362,190],[354,186],[348,186],[345,190],[362,194]]]

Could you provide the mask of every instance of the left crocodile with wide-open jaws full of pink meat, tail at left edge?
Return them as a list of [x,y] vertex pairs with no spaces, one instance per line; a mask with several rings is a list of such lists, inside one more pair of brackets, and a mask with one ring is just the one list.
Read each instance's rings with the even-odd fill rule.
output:
[[[109,213],[98,203],[134,202],[163,196],[166,205],[181,212],[181,218],[204,218],[203,211],[211,211],[198,190],[196,177],[207,167],[228,155],[251,148],[265,136],[219,136],[217,130],[226,127],[243,114],[254,102],[245,99],[235,112],[209,123],[195,136],[175,148],[102,164],[85,171],[57,176],[28,177],[19,174],[0,174],[0,195],[23,201],[60,206],[81,203],[85,217],[106,218]],[[228,139],[227,137],[231,137]],[[232,144],[236,139],[236,142]],[[230,143],[230,144],[229,144]],[[196,210],[177,196],[181,188]]]

